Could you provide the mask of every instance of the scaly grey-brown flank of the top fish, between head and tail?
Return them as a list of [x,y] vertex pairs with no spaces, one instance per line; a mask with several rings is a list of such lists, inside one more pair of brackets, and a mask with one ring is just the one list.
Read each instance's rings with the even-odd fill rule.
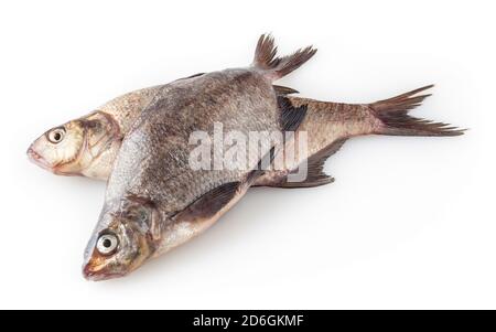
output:
[[[107,200],[120,197],[132,188],[136,195],[153,192],[152,200],[165,202],[171,211],[180,210],[204,191],[237,181],[245,173],[191,170],[188,157],[194,148],[188,143],[191,132],[212,131],[215,122],[222,122],[225,131],[239,130],[247,136],[249,131],[280,129],[276,94],[270,82],[256,72],[229,69],[205,74],[175,82],[164,89],[169,97],[145,109],[122,142],[109,179]],[[148,173],[131,176],[143,168]],[[213,176],[214,172],[217,174]],[[197,181],[194,190],[198,193],[192,188],[179,188],[183,179]]]

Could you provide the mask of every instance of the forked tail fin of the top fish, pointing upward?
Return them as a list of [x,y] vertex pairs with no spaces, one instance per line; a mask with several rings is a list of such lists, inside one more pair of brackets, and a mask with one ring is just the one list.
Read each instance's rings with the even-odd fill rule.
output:
[[278,47],[274,45],[273,38],[270,34],[262,34],[257,43],[252,65],[267,71],[271,81],[279,79],[298,69],[315,54],[316,50],[308,46],[282,57],[277,56],[277,52]]

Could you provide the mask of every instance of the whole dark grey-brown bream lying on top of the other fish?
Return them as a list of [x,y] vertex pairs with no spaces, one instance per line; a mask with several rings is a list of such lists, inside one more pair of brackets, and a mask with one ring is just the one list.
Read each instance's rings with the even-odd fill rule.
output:
[[[263,174],[276,146],[249,149],[246,168],[194,169],[192,133],[294,132],[306,106],[292,107],[272,83],[309,61],[316,50],[277,56],[262,35],[248,67],[205,73],[163,87],[122,140],[98,223],[88,242],[83,275],[122,277],[212,226]],[[214,156],[224,147],[214,146]],[[255,151],[259,150],[259,151]],[[263,158],[258,158],[262,156]]]

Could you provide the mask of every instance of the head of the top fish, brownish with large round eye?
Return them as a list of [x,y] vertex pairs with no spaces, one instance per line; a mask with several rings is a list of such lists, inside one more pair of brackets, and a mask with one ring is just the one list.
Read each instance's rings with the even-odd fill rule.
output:
[[154,253],[157,218],[153,205],[136,201],[118,213],[104,212],[85,250],[84,277],[106,280],[140,267]]

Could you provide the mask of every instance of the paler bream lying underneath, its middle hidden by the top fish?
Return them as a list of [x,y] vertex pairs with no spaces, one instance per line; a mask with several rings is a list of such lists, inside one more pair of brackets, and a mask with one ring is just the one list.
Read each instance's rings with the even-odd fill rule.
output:
[[[200,74],[188,77],[195,77]],[[181,78],[181,79],[187,79]],[[153,100],[168,97],[165,85],[142,88],[111,99],[87,116],[67,121],[41,135],[28,149],[29,159],[35,164],[60,175],[78,175],[107,181],[122,139],[143,109]],[[296,130],[308,135],[310,161],[320,162],[328,151],[353,137],[366,135],[392,136],[459,136],[463,129],[411,116],[431,94],[423,92],[428,85],[392,98],[367,103],[346,104],[296,97],[298,90],[273,85],[279,96],[285,96],[291,105],[306,105],[306,116]],[[298,148],[295,148],[298,150]],[[296,153],[298,154],[298,153]],[[298,154],[299,156],[299,154]],[[313,156],[313,157],[312,157]],[[328,156],[327,156],[328,158]],[[305,182],[288,182],[302,158],[288,163],[285,170],[267,171],[254,186],[308,188],[333,182],[333,178],[319,173]]]

